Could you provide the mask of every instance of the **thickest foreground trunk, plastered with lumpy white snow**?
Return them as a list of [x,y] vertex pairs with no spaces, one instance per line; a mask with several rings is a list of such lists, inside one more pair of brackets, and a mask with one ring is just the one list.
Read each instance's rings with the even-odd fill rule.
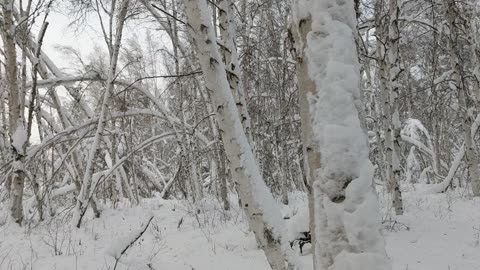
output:
[[297,29],[309,18],[303,61],[316,91],[304,97],[309,104],[305,122],[321,154],[321,167],[313,170],[315,269],[390,269],[358,111],[354,2],[295,1]]

